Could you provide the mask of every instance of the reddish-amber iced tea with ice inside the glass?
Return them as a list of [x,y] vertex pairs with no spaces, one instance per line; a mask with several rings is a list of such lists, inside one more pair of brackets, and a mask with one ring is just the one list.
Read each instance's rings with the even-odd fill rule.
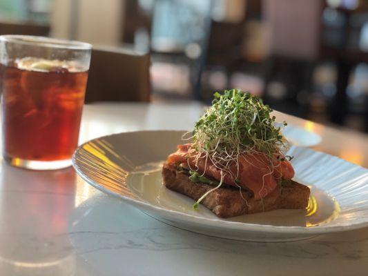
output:
[[77,147],[88,72],[73,61],[22,58],[1,64],[3,153],[70,159]]

